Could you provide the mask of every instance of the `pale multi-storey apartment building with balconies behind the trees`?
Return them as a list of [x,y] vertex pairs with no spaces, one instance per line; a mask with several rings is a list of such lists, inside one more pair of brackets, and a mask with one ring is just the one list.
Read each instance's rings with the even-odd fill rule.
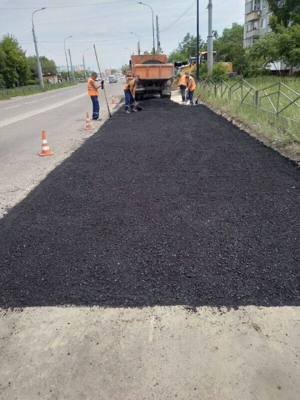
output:
[[244,47],[250,46],[260,35],[271,31],[266,0],[245,0]]

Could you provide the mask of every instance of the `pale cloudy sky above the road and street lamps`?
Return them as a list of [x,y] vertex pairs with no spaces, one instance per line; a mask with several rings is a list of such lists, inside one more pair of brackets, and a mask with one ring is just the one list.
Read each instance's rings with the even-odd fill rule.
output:
[[[168,54],[187,32],[196,35],[196,0],[145,0],[154,15],[158,15],[160,45]],[[208,0],[199,0],[199,33],[207,37]],[[232,22],[244,23],[244,0],[212,0],[212,29],[218,34]],[[26,55],[34,55],[32,12],[38,53],[53,59],[56,65],[66,65],[70,49],[72,64],[97,69],[93,44],[101,70],[119,67],[137,54],[137,36],[141,53],[152,47],[152,11],[136,0],[0,0],[0,36],[9,33],[16,37]],[[156,34],[155,34],[156,46]],[[126,48],[127,47],[127,48]],[[69,63],[69,61],[68,61]]]

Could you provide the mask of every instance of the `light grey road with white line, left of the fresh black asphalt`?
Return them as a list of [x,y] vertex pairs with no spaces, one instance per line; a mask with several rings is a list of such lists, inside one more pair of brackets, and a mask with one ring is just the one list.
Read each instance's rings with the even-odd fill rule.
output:
[[[109,105],[123,94],[123,81],[105,84]],[[107,118],[103,91],[99,90],[100,116]],[[0,216],[21,200],[46,174],[94,133],[102,122],[85,131],[85,114],[91,117],[86,85],[56,89],[0,101]],[[54,156],[39,157],[44,130]]]

